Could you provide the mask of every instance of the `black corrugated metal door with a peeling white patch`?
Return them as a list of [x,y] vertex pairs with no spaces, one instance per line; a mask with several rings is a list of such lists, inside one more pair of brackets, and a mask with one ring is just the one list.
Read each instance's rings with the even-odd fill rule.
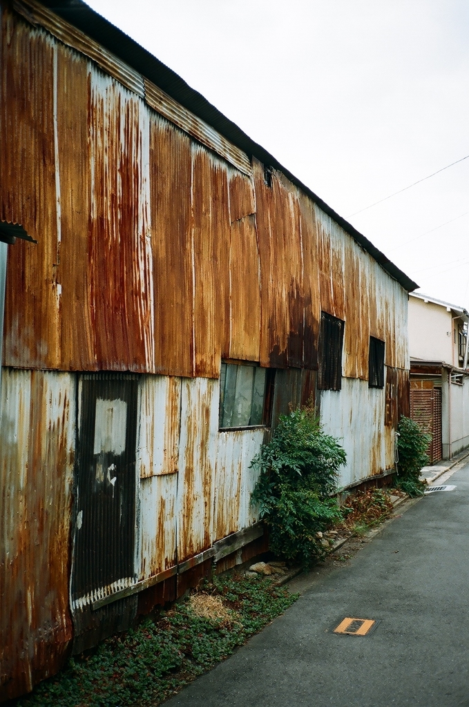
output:
[[72,609],[134,578],[137,376],[81,379]]

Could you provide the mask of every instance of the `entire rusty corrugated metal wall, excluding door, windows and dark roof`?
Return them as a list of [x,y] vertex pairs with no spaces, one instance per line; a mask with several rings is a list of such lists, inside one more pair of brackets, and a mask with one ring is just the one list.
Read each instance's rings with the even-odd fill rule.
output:
[[[136,582],[257,519],[264,431],[219,432],[221,358],[279,369],[277,416],[315,390],[321,310],[345,321],[342,391],[318,401],[344,438],[343,484],[392,466],[408,406],[403,287],[282,173],[27,4],[36,26],[0,0],[0,219],[38,241],[8,255],[7,697],[55,672],[71,639],[72,372],[142,374]],[[383,390],[367,384],[370,335],[386,342]]]

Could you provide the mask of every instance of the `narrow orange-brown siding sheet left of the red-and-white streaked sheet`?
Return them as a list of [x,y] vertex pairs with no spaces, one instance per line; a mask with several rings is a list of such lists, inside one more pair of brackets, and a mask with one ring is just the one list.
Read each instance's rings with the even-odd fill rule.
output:
[[[57,44],[56,162],[59,165],[61,252],[56,269],[62,284],[59,365],[65,370],[86,370],[96,365],[92,272],[88,264],[90,84],[88,62],[71,49]],[[81,175],[80,179],[77,175]],[[43,240],[43,235],[38,238]],[[38,256],[35,252],[28,252],[28,259]]]

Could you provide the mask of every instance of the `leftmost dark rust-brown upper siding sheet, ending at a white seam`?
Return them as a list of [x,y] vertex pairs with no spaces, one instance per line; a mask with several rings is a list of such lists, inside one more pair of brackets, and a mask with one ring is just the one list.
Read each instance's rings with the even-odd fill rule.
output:
[[22,223],[35,238],[11,252],[7,272],[4,360],[55,368],[59,356],[57,260],[59,216],[54,156],[54,44],[2,8],[2,155],[0,219]]

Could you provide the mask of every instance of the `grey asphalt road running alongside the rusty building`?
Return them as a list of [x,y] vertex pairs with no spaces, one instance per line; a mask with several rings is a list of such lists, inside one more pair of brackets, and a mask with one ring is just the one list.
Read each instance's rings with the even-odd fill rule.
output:
[[[282,617],[165,704],[469,707],[469,464],[446,483],[457,488],[299,580],[306,590]],[[378,623],[333,633],[344,617]]]

